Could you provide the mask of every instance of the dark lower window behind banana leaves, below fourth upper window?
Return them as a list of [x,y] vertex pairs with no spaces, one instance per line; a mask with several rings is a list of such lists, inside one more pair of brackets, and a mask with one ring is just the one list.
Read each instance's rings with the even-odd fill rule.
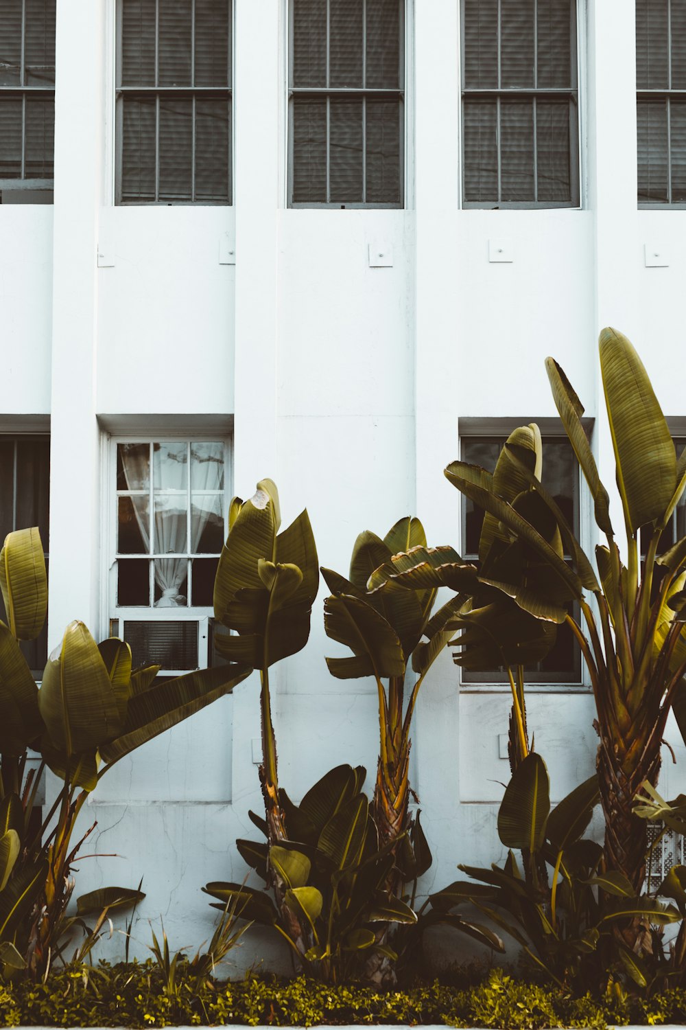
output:
[[[467,420],[464,420],[467,421]],[[469,420],[470,432],[461,437],[461,456],[463,461],[479,465],[493,472],[507,437],[520,422],[512,422],[507,428],[500,425]],[[543,424],[542,424],[543,423]],[[564,431],[546,432],[545,420],[539,420],[543,438],[543,485],[554,497],[567,521],[579,537],[580,474],[572,445],[564,435]],[[475,431],[480,432],[475,432]],[[474,506],[467,497],[462,497],[462,556],[467,561],[478,563],[478,543],[481,535],[483,511]],[[566,555],[569,559],[569,555]],[[471,673],[462,672],[463,683],[502,683],[506,677],[502,672]],[[547,657],[533,668],[527,670],[528,683],[581,683],[581,655],[574,641],[571,629],[567,625],[557,627],[557,638]]]

